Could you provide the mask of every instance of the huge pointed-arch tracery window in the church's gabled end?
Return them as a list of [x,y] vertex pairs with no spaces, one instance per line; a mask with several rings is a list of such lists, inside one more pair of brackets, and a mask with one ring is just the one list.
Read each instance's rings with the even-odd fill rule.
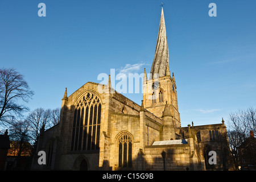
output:
[[96,94],[88,92],[75,107],[71,151],[98,150],[100,123],[100,99]]

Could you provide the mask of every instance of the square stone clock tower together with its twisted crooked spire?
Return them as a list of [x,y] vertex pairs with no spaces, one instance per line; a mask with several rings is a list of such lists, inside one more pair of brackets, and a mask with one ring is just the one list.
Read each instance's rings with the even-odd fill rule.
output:
[[146,70],[143,79],[144,108],[157,117],[164,116],[164,109],[168,105],[174,127],[181,127],[180,114],[177,106],[177,91],[174,73],[170,73],[169,50],[167,43],[166,24],[164,22],[163,7],[160,18],[155,57],[152,63],[150,77],[147,80]]

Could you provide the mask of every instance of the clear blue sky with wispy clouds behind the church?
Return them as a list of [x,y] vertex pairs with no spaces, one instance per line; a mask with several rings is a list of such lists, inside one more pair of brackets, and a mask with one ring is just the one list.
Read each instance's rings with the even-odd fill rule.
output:
[[[38,4],[46,4],[46,17]],[[170,70],[181,126],[221,123],[256,107],[254,0],[0,0],[0,67],[35,92],[27,104],[55,109],[100,73],[150,72],[164,3]],[[210,17],[209,3],[217,16]],[[141,104],[142,94],[124,94]]]

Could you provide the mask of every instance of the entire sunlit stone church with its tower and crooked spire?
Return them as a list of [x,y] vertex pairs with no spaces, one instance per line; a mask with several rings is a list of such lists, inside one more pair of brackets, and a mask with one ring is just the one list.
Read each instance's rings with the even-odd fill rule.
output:
[[223,119],[181,127],[163,9],[150,73],[144,70],[141,105],[116,92],[110,77],[108,85],[87,82],[70,96],[66,89],[59,124],[40,132],[36,154],[45,151],[46,164],[36,155],[32,169],[232,169]]

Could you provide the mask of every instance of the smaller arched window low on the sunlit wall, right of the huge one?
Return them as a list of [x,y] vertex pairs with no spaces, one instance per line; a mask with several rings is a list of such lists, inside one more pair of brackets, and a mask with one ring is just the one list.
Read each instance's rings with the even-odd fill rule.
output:
[[131,167],[132,140],[124,133],[118,140],[118,167]]

